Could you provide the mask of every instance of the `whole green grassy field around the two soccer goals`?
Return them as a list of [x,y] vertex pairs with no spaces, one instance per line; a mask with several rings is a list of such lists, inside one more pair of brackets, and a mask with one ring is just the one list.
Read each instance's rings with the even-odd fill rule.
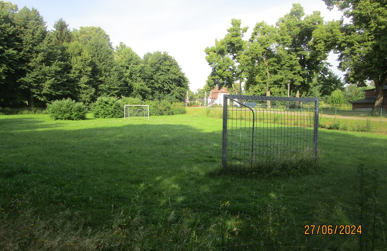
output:
[[386,135],[320,129],[316,170],[265,177],[223,172],[221,131],[204,108],[0,116],[0,249],[387,248]]

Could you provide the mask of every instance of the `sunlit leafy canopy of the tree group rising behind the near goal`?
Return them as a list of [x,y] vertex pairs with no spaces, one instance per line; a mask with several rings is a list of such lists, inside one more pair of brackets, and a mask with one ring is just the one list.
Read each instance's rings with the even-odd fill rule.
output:
[[232,19],[224,38],[204,50],[212,67],[206,85],[232,87],[240,94],[244,82],[246,94],[286,96],[290,81],[296,97],[330,94],[343,83],[328,68],[330,50],[314,43],[322,27],[320,12],[305,15],[299,3],[275,25],[258,22],[249,40],[243,40],[248,27]]

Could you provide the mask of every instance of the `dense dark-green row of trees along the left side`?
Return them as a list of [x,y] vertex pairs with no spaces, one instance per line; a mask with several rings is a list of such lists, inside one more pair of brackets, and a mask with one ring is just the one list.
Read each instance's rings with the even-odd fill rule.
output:
[[0,1],[0,106],[45,106],[103,96],[184,101],[188,79],[167,52],[139,57],[113,48],[101,27],[70,30],[62,18],[47,30],[35,8]]

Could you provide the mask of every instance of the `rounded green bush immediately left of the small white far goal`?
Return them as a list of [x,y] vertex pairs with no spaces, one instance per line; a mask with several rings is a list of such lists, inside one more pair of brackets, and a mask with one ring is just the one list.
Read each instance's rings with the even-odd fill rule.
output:
[[122,118],[123,105],[116,97],[99,97],[91,104],[95,118]]

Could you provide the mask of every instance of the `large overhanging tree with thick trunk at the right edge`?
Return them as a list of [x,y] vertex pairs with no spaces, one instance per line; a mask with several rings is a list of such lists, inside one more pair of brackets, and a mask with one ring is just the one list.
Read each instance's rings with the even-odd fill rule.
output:
[[[387,8],[385,0],[324,0],[337,7],[349,23],[340,22],[331,38],[339,53],[339,69],[346,71],[348,83],[364,86],[375,83],[376,101],[372,113],[382,107],[383,87],[387,84]],[[337,22],[336,22],[337,24]],[[333,24],[332,24],[333,26]]]

